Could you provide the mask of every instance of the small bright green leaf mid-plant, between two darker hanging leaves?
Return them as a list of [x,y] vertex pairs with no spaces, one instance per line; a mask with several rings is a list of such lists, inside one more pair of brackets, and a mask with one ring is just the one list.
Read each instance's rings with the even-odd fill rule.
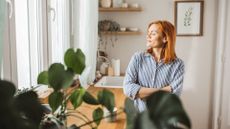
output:
[[71,94],[70,102],[72,103],[74,109],[76,109],[81,105],[84,94],[85,94],[84,88],[79,88]]

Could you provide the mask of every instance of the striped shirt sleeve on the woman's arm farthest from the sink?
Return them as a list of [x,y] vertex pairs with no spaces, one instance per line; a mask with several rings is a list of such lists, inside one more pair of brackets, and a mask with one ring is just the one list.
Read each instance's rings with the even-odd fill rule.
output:
[[181,95],[182,88],[183,88],[183,80],[184,80],[184,63],[180,62],[180,65],[176,69],[173,80],[170,84],[172,87],[172,93],[176,94],[177,96]]

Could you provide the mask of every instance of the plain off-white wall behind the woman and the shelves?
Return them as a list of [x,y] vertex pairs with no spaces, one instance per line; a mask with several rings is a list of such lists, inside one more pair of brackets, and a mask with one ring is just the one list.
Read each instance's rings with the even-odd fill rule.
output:
[[[111,19],[122,26],[138,27],[142,35],[119,36],[112,47],[109,42],[107,52],[110,58],[121,59],[121,72],[134,52],[145,49],[145,35],[151,20],[164,19],[173,22],[173,0],[126,0],[128,3],[140,3],[142,12],[100,13],[99,19]],[[216,46],[217,2],[204,2],[204,34],[201,37],[177,37],[177,55],[186,66],[184,91],[181,96],[194,129],[211,128],[212,87],[214,78],[214,60]],[[108,41],[109,41],[108,37]]]

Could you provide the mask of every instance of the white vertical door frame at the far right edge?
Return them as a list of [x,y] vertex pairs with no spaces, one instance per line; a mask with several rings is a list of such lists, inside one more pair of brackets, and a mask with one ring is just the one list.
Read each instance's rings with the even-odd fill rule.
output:
[[[215,63],[215,87],[214,87],[214,104],[213,104],[213,121],[212,126],[213,129],[224,128],[226,123],[224,123],[225,111],[222,107],[223,93],[224,90],[224,70],[226,69],[223,59],[226,61],[226,39],[227,36],[227,14],[228,14],[228,0],[220,0],[218,3],[218,20],[217,20],[217,44],[216,44],[216,63]],[[227,105],[227,104],[226,104]],[[221,118],[221,119],[220,119]],[[219,124],[219,120],[221,120],[221,125]],[[220,127],[221,126],[221,127]]]

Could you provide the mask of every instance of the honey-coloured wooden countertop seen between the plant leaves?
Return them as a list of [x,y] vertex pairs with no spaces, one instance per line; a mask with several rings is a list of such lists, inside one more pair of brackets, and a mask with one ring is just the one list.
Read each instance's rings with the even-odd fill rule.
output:
[[[102,88],[99,87],[93,87],[91,86],[87,91],[89,91],[92,95],[96,96],[97,92],[102,90]],[[121,88],[110,88],[108,89],[114,93],[115,96],[115,104],[118,108],[118,112],[120,114],[117,115],[117,119],[114,122],[108,122],[106,119],[103,119],[98,127],[98,129],[124,129],[125,123],[126,123],[126,115],[122,110],[119,110],[119,108],[124,108],[124,101],[125,96],[123,94],[123,90]],[[79,108],[77,108],[77,111],[85,114],[87,117],[92,120],[92,112],[94,109],[96,109],[97,106],[88,105],[83,103]],[[72,125],[82,125],[85,122],[82,122],[80,119],[77,119],[75,117],[68,117],[67,124]],[[89,125],[81,127],[81,129],[91,129]]]

